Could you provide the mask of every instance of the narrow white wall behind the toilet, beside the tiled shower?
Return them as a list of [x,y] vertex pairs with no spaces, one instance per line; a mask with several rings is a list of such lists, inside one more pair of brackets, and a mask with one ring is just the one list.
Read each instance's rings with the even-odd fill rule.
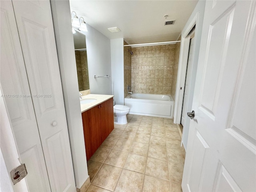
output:
[[114,100],[118,105],[124,105],[124,39],[112,39],[111,73]]

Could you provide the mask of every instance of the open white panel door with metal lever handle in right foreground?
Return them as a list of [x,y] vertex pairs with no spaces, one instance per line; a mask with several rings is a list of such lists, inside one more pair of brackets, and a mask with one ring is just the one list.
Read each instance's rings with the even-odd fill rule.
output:
[[256,1],[206,1],[183,191],[256,191]]

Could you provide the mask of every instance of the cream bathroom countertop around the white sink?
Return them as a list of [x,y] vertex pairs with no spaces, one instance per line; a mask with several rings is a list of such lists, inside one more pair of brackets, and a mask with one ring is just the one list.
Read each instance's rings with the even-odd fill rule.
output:
[[80,104],[81,113],[95,107],[96,105],[98,105],[106,100],[109,100],[112,97],[114,97],[114,95],[88,94],[88,95],[82,96],[82,99],[96,99],[96,101],[91,102],[91,103],[86,103],[86,104]]

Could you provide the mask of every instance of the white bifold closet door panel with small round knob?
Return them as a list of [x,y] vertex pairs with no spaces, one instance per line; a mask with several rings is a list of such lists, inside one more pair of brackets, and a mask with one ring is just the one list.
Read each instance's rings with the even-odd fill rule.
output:
[[12,3],[51,190],[75,191],[50,1]]

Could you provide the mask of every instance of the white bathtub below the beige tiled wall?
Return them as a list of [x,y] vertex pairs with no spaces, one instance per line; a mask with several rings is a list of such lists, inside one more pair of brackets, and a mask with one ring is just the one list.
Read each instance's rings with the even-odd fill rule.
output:
[[174,101],[170,95],[130,94],[124,98],[124,105],[130,107],[130,114],[173,117]]

